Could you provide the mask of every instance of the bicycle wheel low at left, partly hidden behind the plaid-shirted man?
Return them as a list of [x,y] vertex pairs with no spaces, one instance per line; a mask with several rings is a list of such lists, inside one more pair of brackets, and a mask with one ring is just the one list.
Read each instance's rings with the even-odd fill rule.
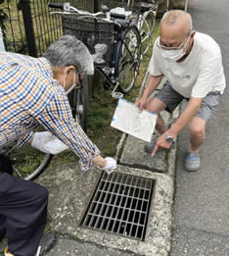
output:
[[18,148],[16,141],[3,146],[0,153],[10,157],[14,168],[13,176],[21,179],[36,179],[52,159],[51,154],[45,154],[29,144]]

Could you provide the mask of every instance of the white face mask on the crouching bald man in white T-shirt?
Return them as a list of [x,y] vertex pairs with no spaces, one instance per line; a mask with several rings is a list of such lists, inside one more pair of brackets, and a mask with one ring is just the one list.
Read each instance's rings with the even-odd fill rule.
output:
[[[189,41],[190,36],[191,36],[191,33],[188,36],[186,42],[184,43],[184,45],[182,47],[163,47],[163,46],[160,46],[160,37],[159,37],[157,44],[160,48],[160,52],[161,52],[161,55],[163,56],[163,58],[165,58],[167,60],[170,60],[170,61],[174,61],[174,62],[180,60],[186,54],[186,51],[184,49],[187,46],[187,43]],[[169,48],[171,48],[171,49],[169,49]]]

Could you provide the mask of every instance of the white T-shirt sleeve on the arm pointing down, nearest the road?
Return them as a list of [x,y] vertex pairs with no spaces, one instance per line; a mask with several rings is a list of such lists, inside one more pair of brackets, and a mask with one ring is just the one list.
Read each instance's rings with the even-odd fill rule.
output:
[[215,58],[211,60],[205,59],[203,68],[197,78],[197,81],[192,89],[192,97],[205,98],[206,94],[212,90],[217,77],[218,67],[221,65],[221,59]]

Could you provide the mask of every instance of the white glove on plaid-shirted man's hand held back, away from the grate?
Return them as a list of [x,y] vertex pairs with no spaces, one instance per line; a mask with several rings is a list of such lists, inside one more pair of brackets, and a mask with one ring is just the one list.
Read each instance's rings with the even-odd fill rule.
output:
[[31,146],[52,155],[59,154],[69,148],[49,131],[35,132]]

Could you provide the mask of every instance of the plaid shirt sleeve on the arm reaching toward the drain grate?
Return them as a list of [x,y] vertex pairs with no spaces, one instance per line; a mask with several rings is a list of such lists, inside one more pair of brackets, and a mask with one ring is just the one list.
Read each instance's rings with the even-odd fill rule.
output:
[[67,96],[55,94],[47,107],[38,115],[37,120],[79,157],[83,171],[89,170],[92,159],[100,155],[100,151],[73,120]]

